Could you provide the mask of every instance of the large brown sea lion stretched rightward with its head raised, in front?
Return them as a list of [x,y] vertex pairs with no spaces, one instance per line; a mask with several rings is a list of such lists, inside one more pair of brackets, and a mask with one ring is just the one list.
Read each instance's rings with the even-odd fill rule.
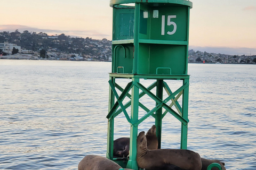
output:
[[137,163],[140,168],[161,169],[166,165],[174,165],[186,170],[201,170],[201,157],[194,151],[186,149],[148,150],[145,132],[137,138]]

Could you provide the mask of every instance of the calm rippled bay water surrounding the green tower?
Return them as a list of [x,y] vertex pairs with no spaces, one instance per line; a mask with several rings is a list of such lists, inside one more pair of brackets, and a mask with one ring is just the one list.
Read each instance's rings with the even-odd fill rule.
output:
[[[110,70],[106,62],[0,60],[0,169],[77,169],[85,155],[105,156]],[[227,169],[256,169],[256,65],[189,64],[189,74],[188,149]],[[139,131],[153,124],[148,118]],[[115,138],[128,136],[118,115]],[[162,148],[179,140],[180,123],[167,114]]]

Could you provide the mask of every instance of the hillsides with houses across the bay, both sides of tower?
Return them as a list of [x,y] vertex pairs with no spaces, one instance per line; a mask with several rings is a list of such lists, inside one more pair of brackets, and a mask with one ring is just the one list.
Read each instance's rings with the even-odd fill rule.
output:
[[[189,50],[188,63],[256,63],[256,55],[228,55]],[[40,60],[111,61],[111,41],[65,34],[19,30],[0,32],[0,58]]]

